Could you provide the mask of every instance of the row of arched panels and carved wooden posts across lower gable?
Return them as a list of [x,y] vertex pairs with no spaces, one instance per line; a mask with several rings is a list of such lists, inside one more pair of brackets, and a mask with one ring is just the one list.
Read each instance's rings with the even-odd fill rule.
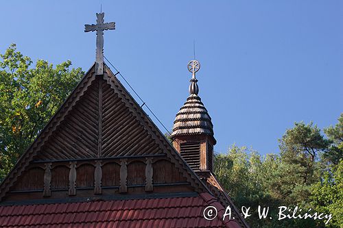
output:
[[103,194],[113,188],[126,193],[128,188],[142,187],[143,192],[153,192],[154,186],[189,184],[164,154],[38,160],[29,166],[27,176],[14,184],[10,193],[43,192],[43,197],[51,197],[51,192],[66,191],[73,197],[79,190]]

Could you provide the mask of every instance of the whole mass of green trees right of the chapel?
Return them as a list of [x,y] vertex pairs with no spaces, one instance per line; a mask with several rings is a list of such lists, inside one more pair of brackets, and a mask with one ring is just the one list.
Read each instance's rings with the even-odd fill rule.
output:
[[[279,140],[280,153],[259,155],[253,149],[233,145],[215,155],[215,175],[237,207],[249,206],[250,227],[342,227],[342,115],[339,123],[321,134],[313,123],[295,123]],[[322,157],[331,164],[322,166]],[[281,205],[304,211],[332,213],[333,222],[318,220],[259,220],[258,205],[270,207],[278,217]],[[255,211],[254,211],[255,210]]]

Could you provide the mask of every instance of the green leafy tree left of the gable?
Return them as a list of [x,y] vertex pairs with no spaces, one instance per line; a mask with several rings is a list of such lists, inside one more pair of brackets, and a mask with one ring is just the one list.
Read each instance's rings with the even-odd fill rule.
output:
[[0,181],[84,74],[71,61],[54,68],[10,45],[0,55]]

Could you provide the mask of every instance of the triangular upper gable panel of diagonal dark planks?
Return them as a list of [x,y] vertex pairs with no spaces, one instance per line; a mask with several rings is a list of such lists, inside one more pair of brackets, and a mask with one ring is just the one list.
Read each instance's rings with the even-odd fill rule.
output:
[[96,76],[34,160],[156,153],[162,153],[158,144],[110,85],[102,77]]

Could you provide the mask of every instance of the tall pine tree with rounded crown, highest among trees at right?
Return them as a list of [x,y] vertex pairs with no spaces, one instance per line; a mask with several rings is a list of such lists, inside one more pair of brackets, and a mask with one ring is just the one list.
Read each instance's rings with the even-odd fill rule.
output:
[[304,203],[311,184],[320,177],[318,154],[327,151],[329,140],[313,123],[295,123],[279,140],[281,162],[271,177],[271,194],[285,203]]

